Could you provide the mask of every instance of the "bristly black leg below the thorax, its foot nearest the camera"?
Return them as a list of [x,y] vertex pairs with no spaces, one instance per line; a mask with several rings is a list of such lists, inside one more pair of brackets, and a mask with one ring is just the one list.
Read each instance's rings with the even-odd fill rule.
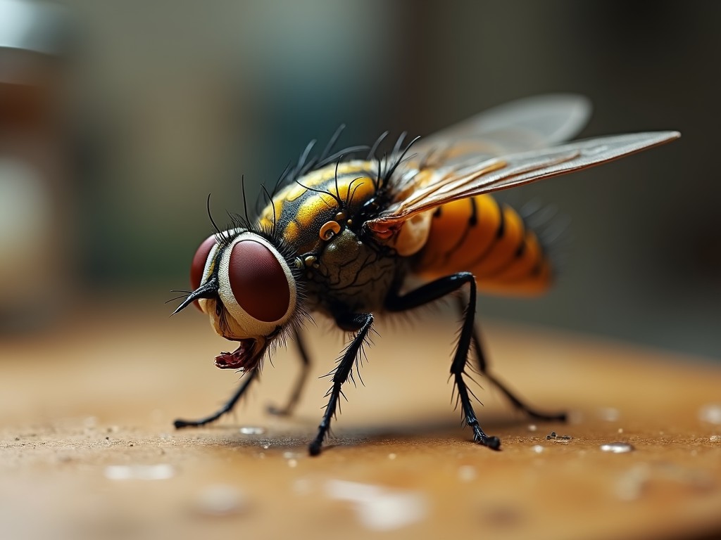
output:
[[335,416],[338,398],[342,394],[342,384],[348,380],[350,371],[353,369],[353,363],[358,357],[358,352],[361,350],[363,341],[365,341],[366,336],[368,336],[368,330],[371,330],[373,315],[371,315],[371,313],[342,315],[336,318],[336,322],[343,330],[351,332],[355,331],[357,333],[355,334],[353,341],[350,342],[348,348],[345,349],[343,356],[341,356],[335,370],[332,372],[333,385],[327,393],[327,396],[329,396],[328,405],[325,407],[323,419],[318,426],[318,434],[308,447],[308,451],[311,456],[317,456],[320,454],[320,448],[323,445],[323,440],[330,429],[330,420]]

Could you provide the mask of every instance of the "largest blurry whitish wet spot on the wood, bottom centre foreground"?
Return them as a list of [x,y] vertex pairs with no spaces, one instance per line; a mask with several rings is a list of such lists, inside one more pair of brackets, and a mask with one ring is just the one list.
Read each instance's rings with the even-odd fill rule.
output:
[[330,498],[353,503],[358,521],[372,531],[392,531],[412,525],[428,514],[428,500],[418,492],[345,480],[329,480],[325,491]]

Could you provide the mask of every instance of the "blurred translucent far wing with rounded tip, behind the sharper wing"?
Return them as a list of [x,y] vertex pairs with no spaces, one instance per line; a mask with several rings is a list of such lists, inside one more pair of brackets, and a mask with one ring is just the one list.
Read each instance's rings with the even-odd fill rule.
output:
[[578,135],[590,110],[588,99],[575,94],[518,99],[421,139],[412,153],[434,164],[458,164],[547,148]]

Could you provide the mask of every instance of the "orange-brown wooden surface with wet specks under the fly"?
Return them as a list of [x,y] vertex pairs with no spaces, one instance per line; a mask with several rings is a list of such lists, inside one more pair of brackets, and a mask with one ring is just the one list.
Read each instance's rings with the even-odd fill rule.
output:
[[[236,415],[174,431],[174,418],[233,390],[236,374],[213,366],[228,346],[197,312],[101,306],[0,344],[3,539],[721,537],[718,365],[487,325],[497,374],[571,413],[529,422],[479,380],[482,426],[503,440],[494,452],[469,442],[452,410],[452,318],[381,322],[365,386],[348,385],[335,437],[310,458],[329,384],[317,377],[342,334],[311,330],[295,417],[265,413],[298,372],[280,350]],[[614,441],[634,450],[601,450]]]

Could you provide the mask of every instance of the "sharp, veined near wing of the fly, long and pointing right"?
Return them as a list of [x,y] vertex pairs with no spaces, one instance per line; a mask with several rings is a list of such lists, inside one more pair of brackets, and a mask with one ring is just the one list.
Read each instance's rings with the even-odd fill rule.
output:
[[404,175],[399,176],[397,184],[405,186],[403,192],[367,225],[380,238],[388,238],[389,233],[398,230],[410,217],[446,202],[600,165],[680,136],[676,131],[611,135],[508,156],[480,158],[466,165],[451,163],[424,171],[407,170],[399,173]]

